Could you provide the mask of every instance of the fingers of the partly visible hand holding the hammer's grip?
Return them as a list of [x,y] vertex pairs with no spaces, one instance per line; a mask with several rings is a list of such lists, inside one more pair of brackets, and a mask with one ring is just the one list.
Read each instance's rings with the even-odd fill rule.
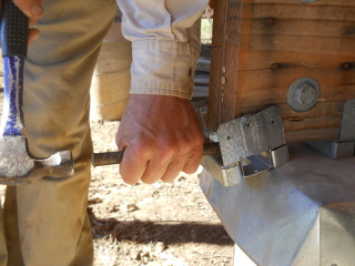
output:
[[[29,17],[30,27],[43,16],[44,0],[12,0],[13,3]],[[29,45],[40,35],[40,31],[36,28],[29,30]]]

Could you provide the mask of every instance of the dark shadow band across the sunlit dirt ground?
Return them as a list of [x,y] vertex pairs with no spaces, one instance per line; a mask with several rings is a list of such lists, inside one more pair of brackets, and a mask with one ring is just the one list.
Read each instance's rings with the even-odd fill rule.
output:
[[130,241],[139,244],[204,243],[214,245],[233,245],[222,225],[193,222],[151,222],[100,219],[88,208],[94,238],[111,237],[118,241]]

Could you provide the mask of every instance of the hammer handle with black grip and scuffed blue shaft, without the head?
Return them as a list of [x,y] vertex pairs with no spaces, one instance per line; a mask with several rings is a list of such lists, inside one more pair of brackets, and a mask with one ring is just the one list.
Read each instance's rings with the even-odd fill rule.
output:
[[29,39],[29,19],[12,0],[1,0],[0,23],[4,78],[0,135],[21,136],[23,69]]

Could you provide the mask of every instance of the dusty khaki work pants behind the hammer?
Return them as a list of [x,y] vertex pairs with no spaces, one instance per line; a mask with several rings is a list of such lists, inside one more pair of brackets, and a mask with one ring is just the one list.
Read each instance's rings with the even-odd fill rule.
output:
[[26,63],[26,135],[36,157],[72,151],[75,175],[7,188],[0,266],[92,265],[89,89],[115,12],[114,0],[44,1],[42,33]]

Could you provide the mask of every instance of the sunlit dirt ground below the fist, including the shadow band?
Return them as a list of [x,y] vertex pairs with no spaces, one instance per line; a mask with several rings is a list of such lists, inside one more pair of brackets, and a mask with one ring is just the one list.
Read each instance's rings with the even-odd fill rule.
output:
[[[118,126],[92,123],[94,151],[115,150]],[[88,212],[95,266],[233,265],[233,242],[201,192],[199,172],[172,184],[135,186],[122,182],[116,165],[92,173]]]

